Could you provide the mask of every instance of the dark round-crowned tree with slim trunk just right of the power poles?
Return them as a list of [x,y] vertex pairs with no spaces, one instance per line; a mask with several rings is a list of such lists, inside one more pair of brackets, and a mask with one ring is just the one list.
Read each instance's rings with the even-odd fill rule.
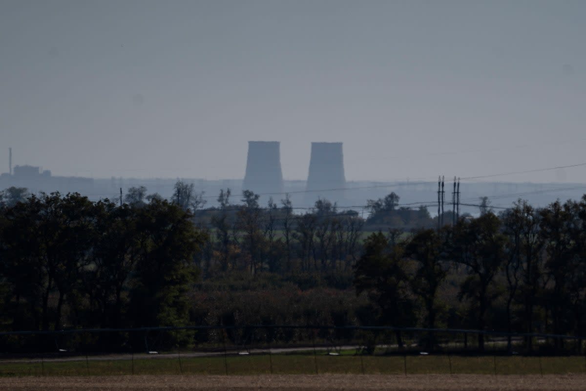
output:
[[[458,298],[471,299],[472,311],[476,312],[476,328],[486,325],[486,311],[496,298],[489,292],[496,274],[503,263],[505,236],[500,232],[500,220],[491,212],[478,219],[459,220],[454,227],[451,254],[456,263],[465,266],[468,274],[460,285]],[[478,348],[484,349],[484,335],[478,335]]]

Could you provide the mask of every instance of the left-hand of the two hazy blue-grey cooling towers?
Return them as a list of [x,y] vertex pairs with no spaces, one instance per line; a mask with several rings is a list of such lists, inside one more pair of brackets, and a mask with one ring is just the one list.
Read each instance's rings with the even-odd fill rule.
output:
[[[283,191],[280,142],[248,141],[246,175],[242,189],[257,194]],[[279,196],[273,195],[273,198],[278,199]],[[268,195],[263,199],[268,199]]]

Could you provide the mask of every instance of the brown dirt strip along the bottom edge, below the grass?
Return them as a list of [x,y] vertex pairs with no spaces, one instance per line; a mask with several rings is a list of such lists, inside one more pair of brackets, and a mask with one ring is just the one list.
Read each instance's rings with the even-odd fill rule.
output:
[[586,375],[261,375],[0,378],[0,390],[586,390]]

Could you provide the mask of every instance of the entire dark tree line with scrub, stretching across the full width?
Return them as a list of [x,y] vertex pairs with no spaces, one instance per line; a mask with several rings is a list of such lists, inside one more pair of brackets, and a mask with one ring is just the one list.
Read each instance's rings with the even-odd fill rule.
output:
[[181,181],[169,200],[131,188],[122,205],[7,189],[1,327],[257,319],[584,334],[586,198],[546,208],[519,200],[440,230],[394,193],[370,200],[366,219],[325,199],[303,213],[288,196],[267,207],[259,199],[243,191],[234,203],[226,189],[205,208]]

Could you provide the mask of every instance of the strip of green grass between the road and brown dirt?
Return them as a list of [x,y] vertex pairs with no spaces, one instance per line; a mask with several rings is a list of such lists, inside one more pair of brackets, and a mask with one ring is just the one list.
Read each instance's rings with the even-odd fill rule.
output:
[[485,374],[539,375],[585,373],[586,359],[525,356],[360,356],[325,354],[257,354],[247,356],[76,361],[19,360],[0,362],[0,376],[86,375],[263,375],[263,374]]

